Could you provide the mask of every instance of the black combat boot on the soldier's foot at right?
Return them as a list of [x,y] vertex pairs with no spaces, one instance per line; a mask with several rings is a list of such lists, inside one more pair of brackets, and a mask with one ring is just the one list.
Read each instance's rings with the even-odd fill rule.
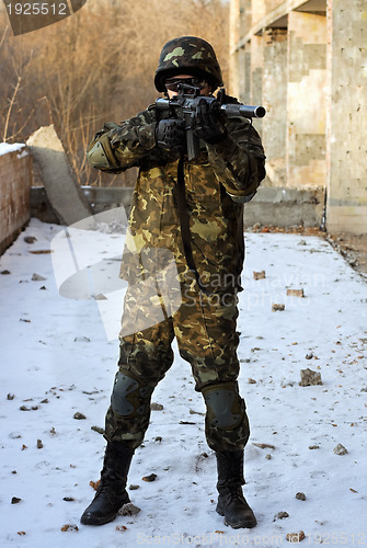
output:
[[216,453],[218,466],[218,504],[217,512],[225,516],[225,524],[233,529],[254,527],[256,518],[242,493],[243,450]]

